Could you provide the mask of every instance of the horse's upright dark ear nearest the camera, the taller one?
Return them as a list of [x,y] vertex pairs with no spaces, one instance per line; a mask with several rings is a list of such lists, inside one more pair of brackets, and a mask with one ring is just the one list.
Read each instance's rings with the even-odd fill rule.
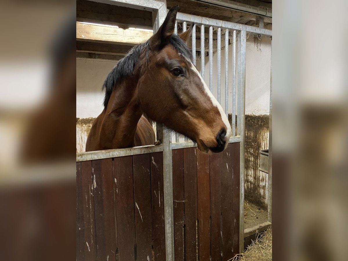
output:
[[163,24],[159,27],[157,33],[155,33],[150,39],[150,45],[165,46],[168,44],[174,33],[176,14],[179,10],[179,6],[172,7],[164,20]]

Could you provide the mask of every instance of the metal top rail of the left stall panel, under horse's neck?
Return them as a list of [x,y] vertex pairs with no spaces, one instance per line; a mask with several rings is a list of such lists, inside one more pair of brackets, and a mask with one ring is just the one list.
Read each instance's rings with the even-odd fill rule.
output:
[[76,153],[76,161],[116,158],[159,151],[163,151],[163,145],[147,145],[127,149],[89,151]]

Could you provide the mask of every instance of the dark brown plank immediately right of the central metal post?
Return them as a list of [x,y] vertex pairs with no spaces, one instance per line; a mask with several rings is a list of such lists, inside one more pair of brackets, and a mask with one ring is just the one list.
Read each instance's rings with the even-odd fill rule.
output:
[[184,261],[184,204],[185,202],[184,202],[183,149],[173,150],[173,200],[174,200],[173,206],[174,206],[175,261]]

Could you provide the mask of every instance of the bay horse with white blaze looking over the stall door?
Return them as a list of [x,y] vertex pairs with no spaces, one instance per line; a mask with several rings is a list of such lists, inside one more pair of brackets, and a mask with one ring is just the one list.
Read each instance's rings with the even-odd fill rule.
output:
[[159,30],[109,73],[104,109],[93,122],[86,151],[153,144],[155,132],[144,115],[187,136],[205,153],[227,147],[231,126],[186,44],[193,26],[174,34],[178,10],[171,8]]

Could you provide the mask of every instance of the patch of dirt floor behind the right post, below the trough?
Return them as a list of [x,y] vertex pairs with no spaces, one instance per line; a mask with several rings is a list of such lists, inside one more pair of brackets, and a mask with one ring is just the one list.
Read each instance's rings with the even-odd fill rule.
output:
[[258,206],[244,202],[244,229],[251,228],[267,221],[267,211]]

